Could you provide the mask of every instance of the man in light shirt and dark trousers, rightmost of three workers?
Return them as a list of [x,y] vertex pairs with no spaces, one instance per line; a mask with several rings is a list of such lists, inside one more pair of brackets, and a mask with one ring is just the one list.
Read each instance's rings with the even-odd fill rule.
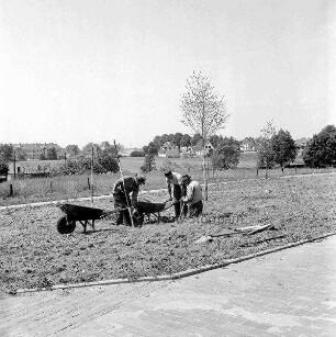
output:
[[188,175],[182,177],[182,183],[187,187],[187,195],[182,198],[182,201],[188,204],[189,217],[199,216],[203,212],[202,188]]

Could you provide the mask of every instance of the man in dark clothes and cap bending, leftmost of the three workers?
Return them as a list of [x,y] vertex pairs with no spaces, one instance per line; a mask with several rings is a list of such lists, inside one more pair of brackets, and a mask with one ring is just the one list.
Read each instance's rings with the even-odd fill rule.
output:
[[137,175],[135,178],[126,176],[119,179],[114,183],[114,209],[120,210],[119,217],[116,220],[117,225],[122,225],[124,221],[127,226],[132,225],[130,210],[127,206],[130,205],[132,207],[136,207],[139,186],[145,184],[145,182],[146,178],[142,175]]

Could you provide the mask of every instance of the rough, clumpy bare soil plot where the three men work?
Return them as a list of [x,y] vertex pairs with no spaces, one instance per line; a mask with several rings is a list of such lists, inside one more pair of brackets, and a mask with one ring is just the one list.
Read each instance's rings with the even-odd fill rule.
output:
[[[14,291],[166,274],[334,232],[335,181],[331,173],[219,183],[210,187],[200,221],[130,228],[105,220],[88,234],[78,225],[72,234],[59,235],[56,222],[63,213],[55,206],[1,211],[0,284]],[[148,193],[144,198],[163,201],[167,195]],[[109,200],[96,201],[94,206],[112,209]],[[223,222],[221,216],[229,213]],[[169,214],[171,210],[163,215]],[[228,226],[257,224],[273,224],[276,229],[195,244],[202,235],[223,233]]]

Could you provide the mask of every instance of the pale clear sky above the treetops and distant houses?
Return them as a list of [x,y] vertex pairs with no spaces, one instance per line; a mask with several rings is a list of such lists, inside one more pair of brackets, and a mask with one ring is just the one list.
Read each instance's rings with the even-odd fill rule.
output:
[[0,143],[148,144],[181,123],[192,71],[219,134],[294,139],[336,124],[333,0],[0,0]]

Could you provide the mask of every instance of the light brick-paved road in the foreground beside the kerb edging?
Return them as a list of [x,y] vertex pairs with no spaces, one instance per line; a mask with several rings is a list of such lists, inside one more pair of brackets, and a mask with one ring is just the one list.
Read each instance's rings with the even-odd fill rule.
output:
[[0,299],[0,336],[336,336],[336,236],[179,281]]

